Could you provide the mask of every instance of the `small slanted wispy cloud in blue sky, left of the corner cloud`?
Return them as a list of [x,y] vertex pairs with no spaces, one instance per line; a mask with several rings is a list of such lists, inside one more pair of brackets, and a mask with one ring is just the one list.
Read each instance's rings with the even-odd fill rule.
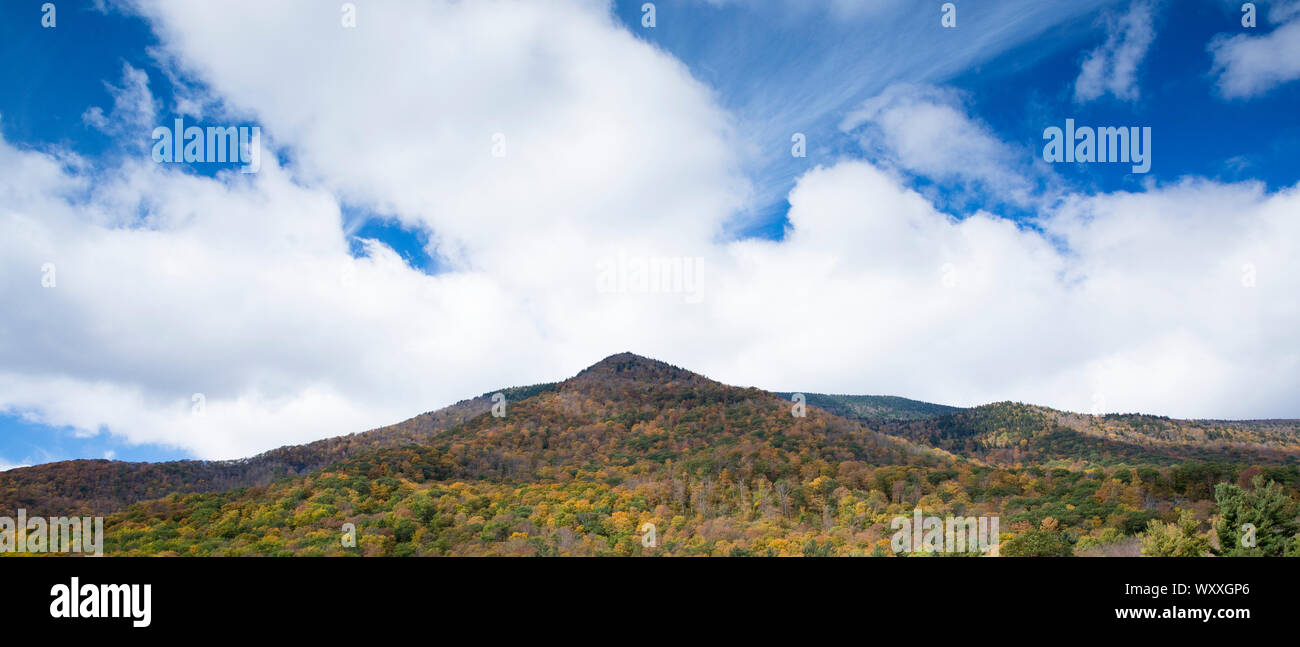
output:
[[1084,57],[1074,82],[1075,100],[1088,103],[1108,92],[1124,101],[1138,99],[1138,66],[1154,39],[1150,4],[1138,0],[1128,13],[1110,21],[1106,42]]

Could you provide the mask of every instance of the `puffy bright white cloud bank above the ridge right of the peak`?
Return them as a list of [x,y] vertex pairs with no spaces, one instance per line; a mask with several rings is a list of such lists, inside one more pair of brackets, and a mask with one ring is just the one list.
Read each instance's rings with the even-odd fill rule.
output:
[[1188,181],[1075,196],[1026,229],[950,218],[846,161],[803,177],[790,204],[786,242],[732,246],[748,290],[723,291],[719,311],[745,322],[729,336],[771,342],[729,377],[958,404],[1295,414],[1296,190]]

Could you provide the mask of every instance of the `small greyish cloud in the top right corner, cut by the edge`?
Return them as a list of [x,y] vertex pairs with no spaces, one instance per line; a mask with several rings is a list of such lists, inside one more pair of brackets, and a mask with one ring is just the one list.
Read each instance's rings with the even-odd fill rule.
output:
[[1280,26],[1268,34],[1219,34],[1210,40],[1210,71],[1225,97],[1258,96],[1300,78],[1300,3],[1279,3],[1269,18]]

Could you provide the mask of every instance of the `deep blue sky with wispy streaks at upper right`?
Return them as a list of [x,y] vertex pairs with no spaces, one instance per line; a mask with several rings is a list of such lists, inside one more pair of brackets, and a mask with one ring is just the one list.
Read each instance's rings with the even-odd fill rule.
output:
[[[958,23],[950,30],[939,25],[939,4],[930,12],[922,8],[900,14],[904,22],[890,25],[900,34],[924,34],[902,43],[902,56],[890,51],[897,42],[878,40],[876,31],[863,29],[872,22],[870,17],[838,22],[826,10],[796,10],[780,3],[759,3],[766,9],[754,10],[745,3],[680,1],[659,3],[658,14],[666,18],[644,29],[640,5],[620,4],[618,14],[628,29],[689,65],[741,117],[744,130],[763,133],[772,143],[754,160],[753,171],[767,195],[755,205],[757,222],[749,222],[742,234],[780,236],[786,207],[781,196],[815,164],[812,159],[792,159],[788,142],[768,131],[779,123],[806,133],[814,142],[810,146],[852,149],[837,129],[844,112],[896,81],[959,88],[972,114],[1002,140],[1023,148],[1026,156],[1041,149],[1045,126],[1072,117],[1080,125],[1152,126],[1161,146],[1157,182],[1187,174],[1249,177],[1277,188],[1294,184],[1300,170],[1294,153],[1300,143],[1300,120],[1295,118],[1300,86],[1283,86],[1249,101],[1216,97],[1206,43],[1225,31],[1245,31],[1232,29],[1240,27],[1239,14],[1228,3],[1179,3],[1176,8],[1165,3],[1156,14],[1156,42],[1139,73],[1140,99],[1108,96],[1083,105],[1072,100],[1080,60],[1105,40],[1106,19],[1122,14],[1126,3],[1078,3],[1097,9],[1078,12],[1036,38],[1017,42],[1017,35],[1009,34],[1014,47],[989,52],[987,60],[959,52],[987,31],[987,22],[1018,13],[993,12],[988,18],[978,13],[996,9],[996,3],[988,8],[957,3]],[[1268,4],[1260,6],[1266,12]],[[1060,3],[1041,3],[1036,9],[1061,8]],[[670,19],[677,14],[686,16]],[[880,71],[889,68],[880,60],[897,71]],[[785,112],[797,116],[781,118]],[[1062,174],[1075,188],[1088,191],[1132,188],[1139,181],[1117,166],[1080,164]],[[958,207],[965,207],[959,212],[975,210],[984,204]]]

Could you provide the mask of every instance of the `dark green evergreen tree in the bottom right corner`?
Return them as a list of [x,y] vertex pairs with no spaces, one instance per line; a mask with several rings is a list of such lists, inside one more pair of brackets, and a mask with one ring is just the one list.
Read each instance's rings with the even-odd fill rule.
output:
[[1219,508],[1219,518],[1214,522],[1219,547],[1214,553],[1280,557],[1300,533],[1296,503],[1278,483],[1265,483],[1262,476],[1256,476],[1251,485],[1249,490],[1232,483],[1214,486],[1214,500]]

